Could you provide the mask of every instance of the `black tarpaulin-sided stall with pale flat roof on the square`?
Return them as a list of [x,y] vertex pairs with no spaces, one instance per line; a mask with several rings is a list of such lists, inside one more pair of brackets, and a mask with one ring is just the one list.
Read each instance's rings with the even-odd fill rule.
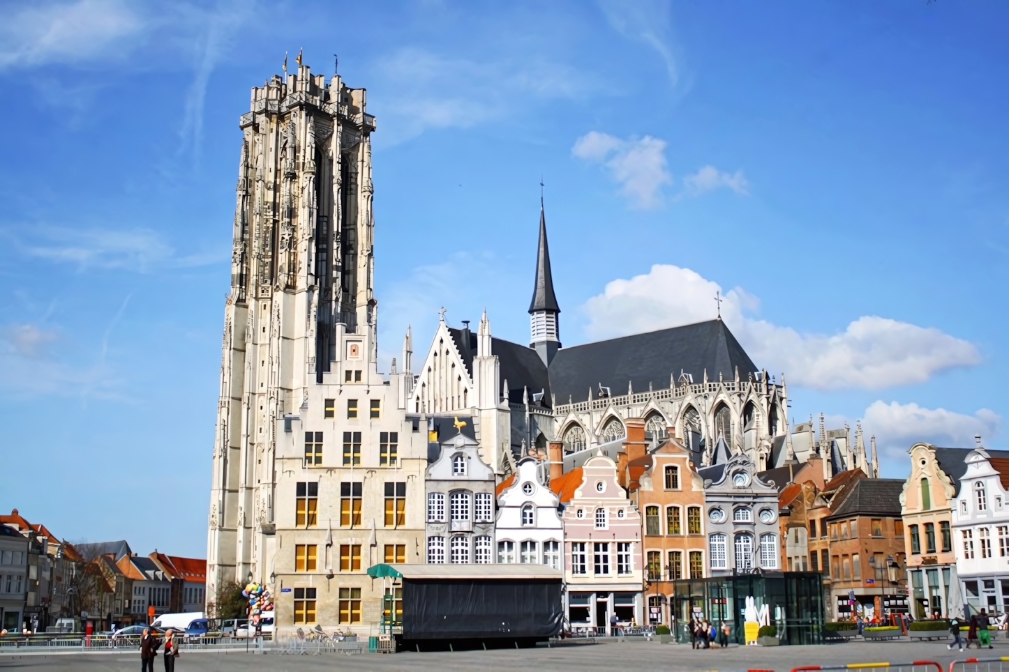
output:
[[561,630],[563,573],[542,564],[377,564],[372,577],[402,582],[406,646],[419,640],[517,644]]

